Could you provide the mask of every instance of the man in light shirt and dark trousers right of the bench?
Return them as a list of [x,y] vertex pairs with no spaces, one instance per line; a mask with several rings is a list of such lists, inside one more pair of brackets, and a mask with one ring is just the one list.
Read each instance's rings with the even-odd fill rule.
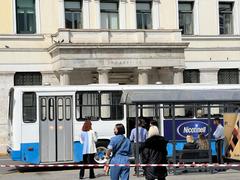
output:
[[224,127],[221,124],[220,119],[217,117],[213,120],[214,125],[217,126],[213,136],[216,140],[216,152],[217,152],[217,162],[219,164],[223,163],[222,151],[223,151],[223,144],[224,144]]

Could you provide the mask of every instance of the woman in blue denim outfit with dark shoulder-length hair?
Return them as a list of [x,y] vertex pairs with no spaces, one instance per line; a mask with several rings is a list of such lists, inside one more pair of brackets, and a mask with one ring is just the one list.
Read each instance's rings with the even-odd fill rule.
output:
[[[107,158],[111,159],[110,164],[129,164],[129,156],[131,155],[131,142],[127,139],[125,134],[125,127],[123,124],[116,124],[114,128],[115,136],[110,140],[107,151]],[[130,167],[111,167],[110,177],[111,180],[128,180],[130,173]]]

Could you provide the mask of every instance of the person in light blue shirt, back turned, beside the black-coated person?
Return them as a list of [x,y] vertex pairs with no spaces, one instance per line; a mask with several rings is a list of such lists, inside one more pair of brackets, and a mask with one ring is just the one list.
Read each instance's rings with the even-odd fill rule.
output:
[[[133,142],[133,154],[134,154],[134,158],[137,158],[137,128],[138,128],[138,142],[139,142],[139,152],[142,149],[142,145],[143,143],[146,141],[147,139],[147,130],[143,127],[144,126],[144,121],[143,119],[139,120],[138,123],[138,127],[132,129],[131,134],[130,134],[130,141]],[[141,158],[140,158],[140,164],[141,164]],[[137,168],[134,168],[135,174],[137,174]]]

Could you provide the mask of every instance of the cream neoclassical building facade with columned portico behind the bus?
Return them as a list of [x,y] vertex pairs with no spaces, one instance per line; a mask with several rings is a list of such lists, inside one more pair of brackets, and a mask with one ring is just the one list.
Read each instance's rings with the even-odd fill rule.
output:
[[239,83],[240,0],[0,0],[0,152],[14,85]]

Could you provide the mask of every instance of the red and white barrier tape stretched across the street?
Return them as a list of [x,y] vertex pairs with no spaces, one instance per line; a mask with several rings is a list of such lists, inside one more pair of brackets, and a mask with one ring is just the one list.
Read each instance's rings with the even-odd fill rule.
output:
[[[106,164],[19,164],[0,165],[0,168],[46,168],[46,167],[104,167]],[[240,167],[240,164],[108,164],[109,167],[214,167],[233,168]]]

